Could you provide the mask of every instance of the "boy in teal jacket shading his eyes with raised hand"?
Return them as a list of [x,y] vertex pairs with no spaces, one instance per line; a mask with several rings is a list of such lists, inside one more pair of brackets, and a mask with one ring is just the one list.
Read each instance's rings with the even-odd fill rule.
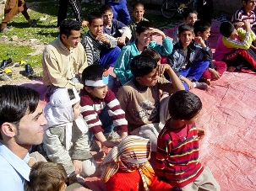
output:
[[[160,34],[162,36],[162,45],[151,41],[152,34]],[[134,56],[138,56],[144,49],[153,48],[164,56],[172,53],[172,40],[166,38],[166,34],[161,30],[152,28],[148,21],[139,22],[136,29],[136,36],[137,40],[123,47],[115,64],[114,72],[122,85],[133,77],[129,66],[130,62],[133,60]]]

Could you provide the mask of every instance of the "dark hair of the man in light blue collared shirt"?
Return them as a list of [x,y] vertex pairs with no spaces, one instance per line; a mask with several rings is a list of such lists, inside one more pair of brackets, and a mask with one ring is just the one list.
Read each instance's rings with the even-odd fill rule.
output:
[[[19,125],[25,114],[35,112],[39,98],[39,93],[31,88],[14,85],[0,87],[0,126],[4,122]],[[3,140],[1,134],[0,139]]]

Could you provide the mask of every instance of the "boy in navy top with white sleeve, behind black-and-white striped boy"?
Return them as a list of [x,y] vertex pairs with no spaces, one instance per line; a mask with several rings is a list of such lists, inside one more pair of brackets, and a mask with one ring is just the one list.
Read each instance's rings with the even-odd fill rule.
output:
[[103,16],[103,33],[116,38],[117,45],[126,45],[126,42],[130,40],[132,36],[128,26],[117,19],[113,19],[112,7],[109,5],[103,5],[100,8],[100,12]]

